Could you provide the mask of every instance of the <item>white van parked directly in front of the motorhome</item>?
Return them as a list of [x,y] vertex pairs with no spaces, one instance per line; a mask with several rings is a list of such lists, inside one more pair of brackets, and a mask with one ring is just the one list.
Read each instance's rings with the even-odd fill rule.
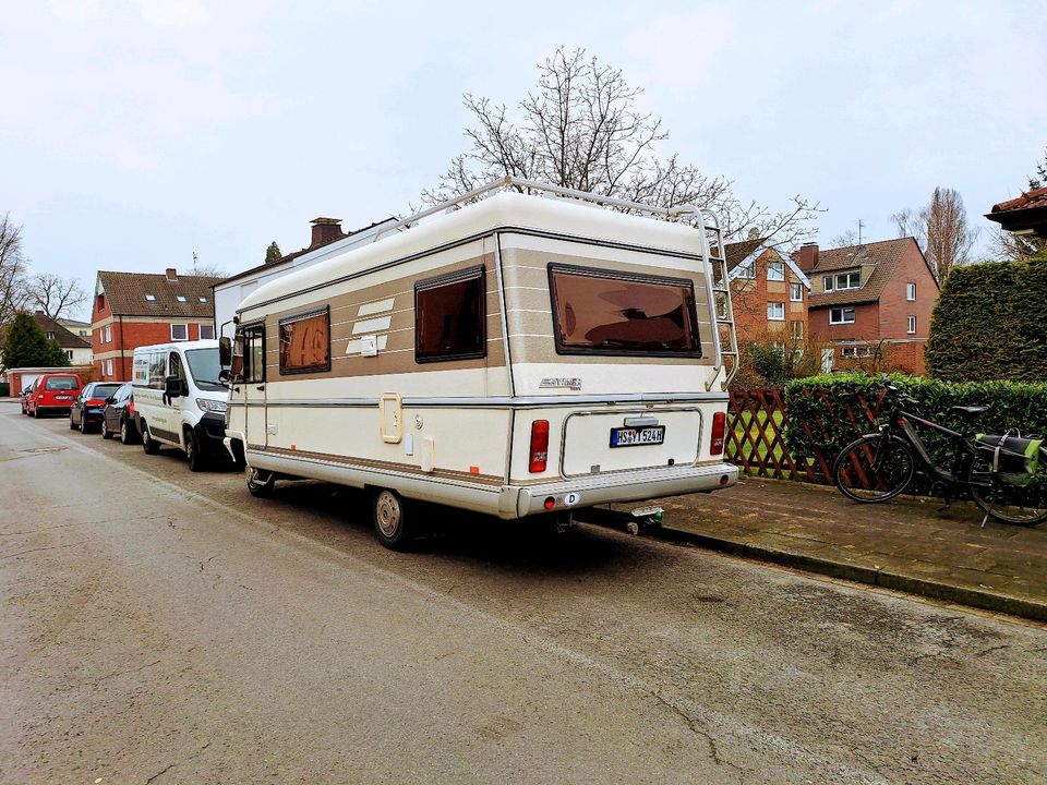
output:
[[227,456],[226,404],[217,340],[139,347],[131,365],[134,419],[149,455],[161,445],[185,452],[189,468],[202,471]]

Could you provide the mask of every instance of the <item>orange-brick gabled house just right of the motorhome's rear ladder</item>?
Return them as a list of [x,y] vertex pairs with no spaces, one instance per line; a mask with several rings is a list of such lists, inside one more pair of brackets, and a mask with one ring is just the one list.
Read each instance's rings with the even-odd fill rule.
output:
[[738,342],[804,341],[811,283],[797,264],[762,238],[729,243],[724,253]]

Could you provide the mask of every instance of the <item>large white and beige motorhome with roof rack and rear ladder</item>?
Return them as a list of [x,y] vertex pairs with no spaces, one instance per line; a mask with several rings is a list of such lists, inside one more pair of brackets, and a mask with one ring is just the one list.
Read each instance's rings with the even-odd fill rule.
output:
[[711,215],[506,178],[395,228],[240,303],[226,442],[251,493],[368,488],[404,547],[412,499],[515,519],[735,482]]

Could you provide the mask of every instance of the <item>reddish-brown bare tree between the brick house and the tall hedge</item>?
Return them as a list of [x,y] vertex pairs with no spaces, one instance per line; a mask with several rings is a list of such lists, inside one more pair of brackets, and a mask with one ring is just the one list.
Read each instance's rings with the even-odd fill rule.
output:
[[916,239],[939,283],[944,282],[953,267],[971,262],[978,230],[967,222],[963,197],[955,189],[936,188],[930,202],[919,212],[906,208],[891,218],[899,237]]

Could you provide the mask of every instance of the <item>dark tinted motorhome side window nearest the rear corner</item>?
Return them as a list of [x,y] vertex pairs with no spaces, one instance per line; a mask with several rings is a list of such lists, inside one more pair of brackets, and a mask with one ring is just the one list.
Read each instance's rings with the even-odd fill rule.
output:
[[442,362],[488,352],[483,267],[414,285],[414,359]]

